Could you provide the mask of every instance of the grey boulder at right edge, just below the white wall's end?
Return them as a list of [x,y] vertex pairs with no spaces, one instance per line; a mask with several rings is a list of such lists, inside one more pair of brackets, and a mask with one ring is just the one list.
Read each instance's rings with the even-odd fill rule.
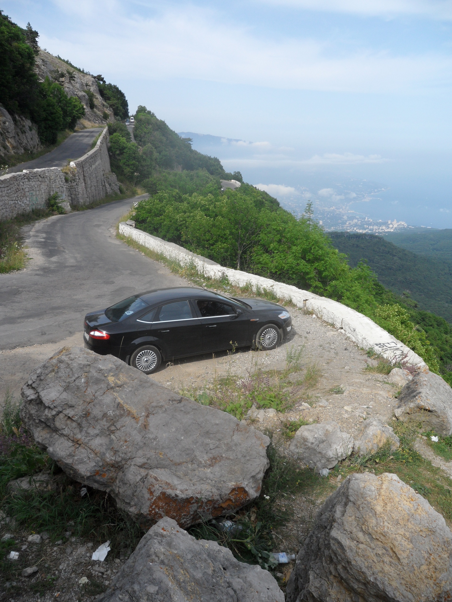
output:
[[451,435],[452,389],[438,374],[419,370],[402,389],[394,415],[404,422],[422,422],[439,435]]

